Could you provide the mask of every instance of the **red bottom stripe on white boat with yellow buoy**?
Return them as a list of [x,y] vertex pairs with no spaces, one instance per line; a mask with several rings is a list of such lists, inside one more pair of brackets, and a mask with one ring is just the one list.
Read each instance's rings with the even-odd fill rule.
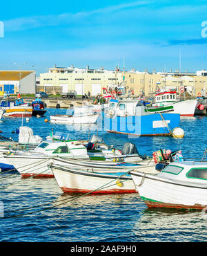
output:
[[[78,188],[63,188],[60,187],[61,190],[63,190],[64,193],[89,193],[92,190],[80,190]],[[135,190],[119,190],[119,189],[114,189],[114,190],[97,190],[91,192],[91,194],[113,194],[113,193],[137,193]]]

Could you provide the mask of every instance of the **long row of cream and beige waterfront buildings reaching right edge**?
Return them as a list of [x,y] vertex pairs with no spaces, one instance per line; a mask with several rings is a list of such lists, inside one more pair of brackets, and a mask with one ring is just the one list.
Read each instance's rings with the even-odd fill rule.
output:
[[109,71],[103,67],[99,69],[75,68],[70,67],[53,67],[49,68],[47,73],[41,73],[37,91],[46,93],[66,93],[70,90],[77,91],[77,95],[97,95],[106,93],[112,86],[125,86],[126,93],[134,95],[152,96],[163,90],[175,90],[187,92],[189,95],[206,96],[207,93],[207,71],[197,71],[189,73],[175,72],[155,72],[149,73],[135,71],[120,71],[115,68]]

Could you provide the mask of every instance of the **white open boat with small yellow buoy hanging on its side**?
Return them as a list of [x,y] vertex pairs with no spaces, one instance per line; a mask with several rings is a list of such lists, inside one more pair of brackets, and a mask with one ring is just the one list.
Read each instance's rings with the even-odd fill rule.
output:
[[[59,188],[65,193],[81,192],[81,193],[133,193],[135,185],[132,182],[132,177],[128,175],[128,169],[120,170],[113,167],[104,167],[97,169],[93,167],[72,167],[66,165],[50,165],[55,176]],[[132,168],[132,167],[131,167]],[[155,171],[152,165],[146,171],[146,166],[137,165],[137,170],[140,172]]]

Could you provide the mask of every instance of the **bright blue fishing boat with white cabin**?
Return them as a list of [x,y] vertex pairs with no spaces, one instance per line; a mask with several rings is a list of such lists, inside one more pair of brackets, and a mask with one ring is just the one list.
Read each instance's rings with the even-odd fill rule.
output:
[[132,136],[168,136],[179,126],[178,113],[151,113],[139,100],[113,100],[102,112],[106,131]]

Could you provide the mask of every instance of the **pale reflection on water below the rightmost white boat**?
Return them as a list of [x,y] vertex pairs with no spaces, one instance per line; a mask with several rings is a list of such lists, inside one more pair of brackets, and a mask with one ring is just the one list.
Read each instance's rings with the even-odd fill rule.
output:
[[206,241],[206,221],[207,217],[197,210],[147,208],[135,222],[133,232],[143,241]]

